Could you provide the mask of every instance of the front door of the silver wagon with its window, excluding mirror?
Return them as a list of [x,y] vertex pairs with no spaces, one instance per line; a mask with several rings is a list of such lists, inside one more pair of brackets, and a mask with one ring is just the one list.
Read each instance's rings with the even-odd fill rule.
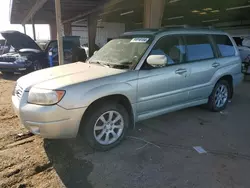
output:
[[150,55],[165,55],[167,64],[152,65],[144,62],[139,71],[137,112],[138,119],[147,119],[166,113],[172,107],[188,100],[187,64],[182,64],[185,46],[179,36],[166,36],[156,43]]

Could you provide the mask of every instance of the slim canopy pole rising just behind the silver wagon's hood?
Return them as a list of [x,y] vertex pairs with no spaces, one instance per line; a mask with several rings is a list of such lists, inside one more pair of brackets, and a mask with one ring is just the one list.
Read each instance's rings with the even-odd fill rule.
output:
[[64,55],[63,55],[63,39],[62,39],[61,0],[55,0],[55,9],[56,9],[58,61],[59,65],[63,65]]

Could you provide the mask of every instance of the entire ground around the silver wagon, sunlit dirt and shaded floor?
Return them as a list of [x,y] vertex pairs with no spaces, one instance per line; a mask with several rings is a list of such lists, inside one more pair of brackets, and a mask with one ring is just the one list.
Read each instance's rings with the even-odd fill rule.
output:
[[100,153],[79,138],[27,133],[11,106],[15,79],[0,74],[1,188],[250,187],[249,82],[221,113],[195,107],[143,121],[120,146]]

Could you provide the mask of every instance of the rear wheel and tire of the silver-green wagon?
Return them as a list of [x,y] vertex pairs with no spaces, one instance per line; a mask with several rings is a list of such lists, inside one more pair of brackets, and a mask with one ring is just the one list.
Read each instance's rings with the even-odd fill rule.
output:
[[209,96],[208,108],[213,112],[219,112],[227,107],[230,98],[231,87],[226,80],[220,80],[215,85]]

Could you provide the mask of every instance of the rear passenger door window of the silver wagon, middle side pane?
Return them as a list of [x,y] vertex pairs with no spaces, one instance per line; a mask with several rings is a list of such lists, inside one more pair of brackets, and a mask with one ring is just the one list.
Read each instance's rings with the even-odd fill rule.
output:
[[207,35],[186,36],[187,61],[199,61],[214,58],[214,52]]

